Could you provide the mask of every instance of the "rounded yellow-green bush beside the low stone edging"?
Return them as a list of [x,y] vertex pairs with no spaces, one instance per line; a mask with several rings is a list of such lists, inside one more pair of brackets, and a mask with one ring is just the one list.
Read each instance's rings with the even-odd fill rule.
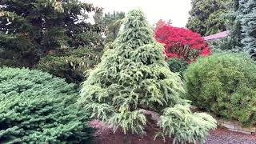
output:
[[199,58],[185,73],[194,105],[223,118],[256,125],[256,65],[243,54]]

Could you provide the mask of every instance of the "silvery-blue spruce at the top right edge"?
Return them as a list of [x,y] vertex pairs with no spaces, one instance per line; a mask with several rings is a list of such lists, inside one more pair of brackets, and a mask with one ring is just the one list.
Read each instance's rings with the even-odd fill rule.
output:
[[248,52],[256,60],[256,1],[242,1],[242,45],[243,50]]

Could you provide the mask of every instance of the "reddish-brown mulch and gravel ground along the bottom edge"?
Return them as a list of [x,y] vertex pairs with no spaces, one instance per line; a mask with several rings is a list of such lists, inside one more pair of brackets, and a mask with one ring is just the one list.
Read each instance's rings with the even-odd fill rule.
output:
[[[107,127],[103,126],[102,122],[96,120],[90,122],[90,125],[97,129],[95,133],[96,144],[124,144],[127,143],[125,139],[130,139],[130,144],[166,144],[172,143],[171,139],[166,139],[163,142],[162,138],[158,138],[154,141],[154,130],[150,127],[146,127],[146,136],[144,138],[138,135],[122,134],[121,130],[118,130],[115,134]],[[210,135],[207,138],[206,144],[256,144],[256,135],[242,134],[233,132],[230,130],[218,128],[217,130],[210,131]]]

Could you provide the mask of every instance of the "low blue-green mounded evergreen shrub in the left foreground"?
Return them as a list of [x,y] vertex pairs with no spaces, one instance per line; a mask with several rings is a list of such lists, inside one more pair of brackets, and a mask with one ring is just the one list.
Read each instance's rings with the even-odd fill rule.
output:
[[0,68],[0,143],[90,142],[77,90],[39,70]]

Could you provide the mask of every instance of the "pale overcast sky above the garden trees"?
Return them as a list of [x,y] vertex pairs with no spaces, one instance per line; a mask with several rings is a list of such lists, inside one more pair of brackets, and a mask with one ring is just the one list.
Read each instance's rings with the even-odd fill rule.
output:
[[141,8],[150,24],[159,19],[171,20],[173,26],[186,26],[189,18],[190,0],[80,0],[101,6],[104,12],[124,11]]

